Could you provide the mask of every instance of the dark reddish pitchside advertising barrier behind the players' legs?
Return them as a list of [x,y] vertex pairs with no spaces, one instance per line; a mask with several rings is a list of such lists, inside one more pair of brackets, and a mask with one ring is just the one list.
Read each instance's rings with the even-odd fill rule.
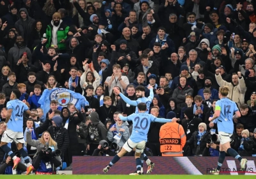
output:
[[[226,157],[220,175],[256,175],[256,157],[245,157],[247,167],[243,171],[239,161]],[[73,175],[104,175],[102,169],[113,157],[73,157]],[[209,171],[217,166],[218,157],[149,157],[156,164],[151,175],[209,175]],[[147,172],[147,164],[143,163]],[[129,175],[136,171],[134,157],[122,157],[108,172],[108,175]]]

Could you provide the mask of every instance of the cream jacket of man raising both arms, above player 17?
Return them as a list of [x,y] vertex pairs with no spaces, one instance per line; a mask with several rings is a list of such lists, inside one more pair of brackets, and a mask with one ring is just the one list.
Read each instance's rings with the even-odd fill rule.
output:
[[232,82],[224,81],[221,75],[215,75],[215,77],[219,86],[229,87],[230,92],[227,95],[228,98],[236,102],[238,107],[240,107],[241,104],[244,104],[244,94],[246,91],[246,86],[243,77],[238,78],[238,84],[236,86],[234,86]]

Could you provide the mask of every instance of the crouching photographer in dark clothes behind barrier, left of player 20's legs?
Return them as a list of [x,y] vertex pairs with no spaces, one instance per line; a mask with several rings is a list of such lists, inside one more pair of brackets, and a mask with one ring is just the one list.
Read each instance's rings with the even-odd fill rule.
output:
[[111,150],[109,144],[105,140],[101,140],[98,148],[96,148],[92,156],[115,156],[116,153]]

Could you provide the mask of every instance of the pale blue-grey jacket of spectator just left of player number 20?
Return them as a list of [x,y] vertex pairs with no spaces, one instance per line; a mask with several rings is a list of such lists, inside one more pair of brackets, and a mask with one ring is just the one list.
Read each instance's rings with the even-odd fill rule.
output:
[[117,143],[116,139],[114,139],[114,134],[113,134],[113,132],[110,131],[110,130],[108,130],[108,136],[107,136],[107,137],[108,137],[109,141],[111,141],[111,142],[113,142],[113,143],[117,143],[118,146],[124,146],[125,142],[126,142],[126,141],[129,139],[129,137],[130,137],[130,132],[129,132],[129,128],[127,127],[127,125],[128,125],[127,122],[122,123],[121,126],[118,126],[117,123],[115,124],[115,127],[116,127],[116,130],[115,130],[115,131],[117,132],[117,134],[115,134],[115,135],[118,135],[118,132],[119,132],[120,128],[124,128],[124,130],[125,130],[125,132],[123,132],[123,134],[122,134],[122,137],[121,137],[119,143]]

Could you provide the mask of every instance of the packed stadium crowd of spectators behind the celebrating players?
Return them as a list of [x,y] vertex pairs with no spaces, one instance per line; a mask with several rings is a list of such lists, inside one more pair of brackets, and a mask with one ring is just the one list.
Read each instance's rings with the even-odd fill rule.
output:
[[[220,86],[228,86],[241,112],[231,146],[256,156],[256,1],[0,1],[0,138],[6,102],[19,89],[19,100],[41,114],[24,115],[24,148],[35,155],[35,169],[48,141],[61,152],[54,166],[63,167],[61,159],[69,166],[75,155],[115,155],[132,132],[132,123],[116,116],[136,110],[121,96],[148,97],[150,86],[148,113],[175,113],[186,134],[184,156],[219,155],[209,117]],[[38,101],[54,88],[80,93],[88,105],[61,108],[51,100],[43,111]],[[147,155],[161,156],[162,125],[150,124]],[[2,167],[11,163],[5,154],[0,148]]]

